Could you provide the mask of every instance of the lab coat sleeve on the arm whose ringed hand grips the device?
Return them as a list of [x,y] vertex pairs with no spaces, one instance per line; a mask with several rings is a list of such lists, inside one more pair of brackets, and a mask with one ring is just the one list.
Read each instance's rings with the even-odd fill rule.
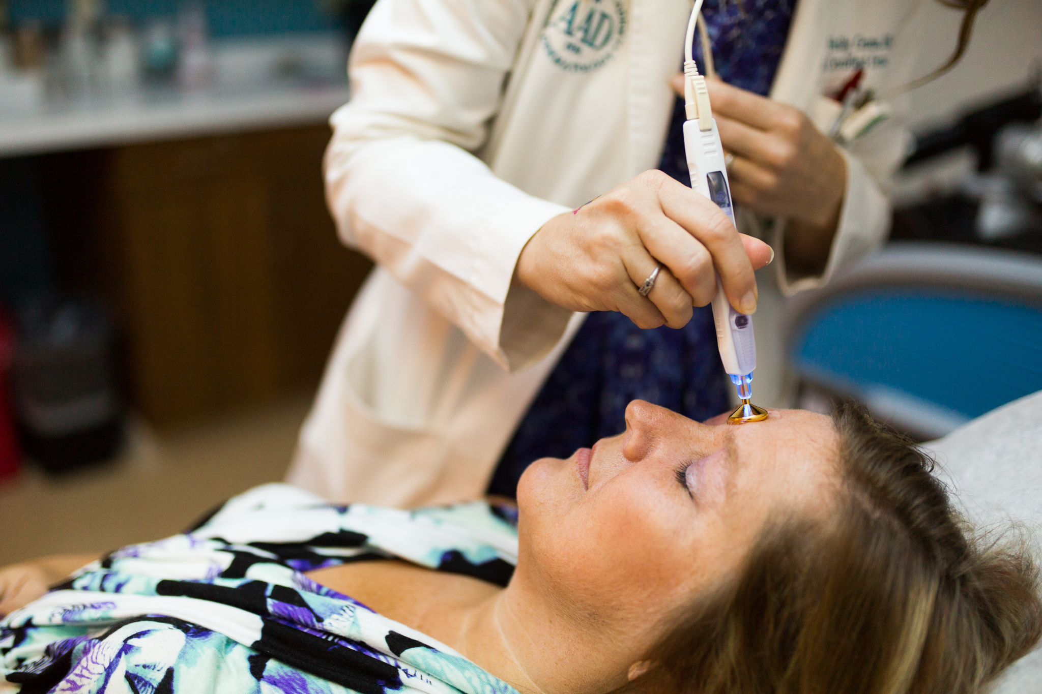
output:
[[567,208],[476,157],[529,24],[530,0],[379,0],[354,43],[352,97],[330,119],[338,233],[500,366],[524,368],[571,312],[515,284],[525,243]]

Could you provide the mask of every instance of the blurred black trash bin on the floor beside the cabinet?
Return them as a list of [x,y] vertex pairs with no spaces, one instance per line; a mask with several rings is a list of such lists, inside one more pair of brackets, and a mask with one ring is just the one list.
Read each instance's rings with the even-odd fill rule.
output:
[[51,472],[110,458],[122,404],[107,311],[83,300],[23,306],[11,368],[26,453]]

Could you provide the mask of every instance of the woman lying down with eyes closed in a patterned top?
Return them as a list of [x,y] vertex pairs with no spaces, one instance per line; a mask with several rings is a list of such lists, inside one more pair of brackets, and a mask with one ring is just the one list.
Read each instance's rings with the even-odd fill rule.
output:
[[531,465],[517,511],[268,485],[71,577],[89,558],[10,567],[5,687],[953,694],[1039,640],[1024,551],[971,539],[864,412],[626,422]]

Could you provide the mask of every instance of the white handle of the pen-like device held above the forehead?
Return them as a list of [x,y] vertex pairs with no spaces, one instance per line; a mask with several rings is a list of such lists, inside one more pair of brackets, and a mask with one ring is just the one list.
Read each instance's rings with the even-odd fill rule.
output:
[[[716,119],[709,130],[700,130],[697,120],[684,124],[684,149],[688,155],[691,187],[702,194],[735,222],[730,201],[730,184],[723,158],[723,146]],[[737,225],[736,225],[737,226]],[[716,324],[717,344],[724,370],[731,376],[748,376],[756,368],[756,341],[752,332],[752,317],[740,313],[727,301],[720,276],[717,292],[713,298],[713,322]]]

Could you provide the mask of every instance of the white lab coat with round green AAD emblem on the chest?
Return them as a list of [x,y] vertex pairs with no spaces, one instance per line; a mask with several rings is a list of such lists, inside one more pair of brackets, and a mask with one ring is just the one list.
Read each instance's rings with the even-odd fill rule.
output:
[[[875,88],[920,74],[901,35],[918,4],[800,0],[772,98],[821,120],[821,95],[857,61]],[[517,258],[550,217],[655,168],[689,11],[687,0],[376,3],[352,50],[351,101],[330,119],[325,177],[341,238],[379,266],[338,337],[290,482],[400,507],[482,494],[584,317],[512,286]],[[784,298],[882,242],[905,137],[895,118],[848,148],[822,277],[787,275],[784,222],[741,219],[777,254],[758,274],[760,404],[791,390]]]

